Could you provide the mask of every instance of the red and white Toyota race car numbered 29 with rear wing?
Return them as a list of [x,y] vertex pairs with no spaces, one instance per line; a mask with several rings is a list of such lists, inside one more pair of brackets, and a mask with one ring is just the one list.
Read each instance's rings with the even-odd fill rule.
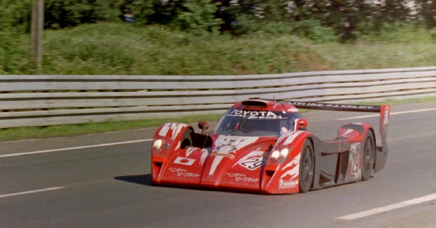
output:
[[[334,140],[306,131],[297,108],[379,112],[381,147],[368,123],[341,126]],[[154,185],[266,194],[307,192],[368,180],[386,162],[390,105],[341,105],[249,99],[235,103],[211,133],[183,123],[157,130],[151,153]]]

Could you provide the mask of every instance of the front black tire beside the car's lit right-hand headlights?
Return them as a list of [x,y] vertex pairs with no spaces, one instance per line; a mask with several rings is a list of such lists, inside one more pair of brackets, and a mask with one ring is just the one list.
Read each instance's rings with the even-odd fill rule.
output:
[[306,140],[301,149],[300,155],[300,174],[298,178],[298,187],[301,193],[309,191],[313,182],[313,170],[315,162],[313,158],[313,147],[310,140]]

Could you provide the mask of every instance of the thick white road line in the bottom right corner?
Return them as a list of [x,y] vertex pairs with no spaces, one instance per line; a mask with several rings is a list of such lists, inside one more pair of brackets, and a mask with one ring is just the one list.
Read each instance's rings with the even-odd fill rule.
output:
[[426,201],[432,201],[436,199],[436,194],[431,194],[431,195],[427,195],[424,197],[419,197],[419,198],[415,198],[412,200],[408,200],[408,201],[402,201],[400,203],[397,204],[391,204],[385,207],[381,207],[381,208],[374,208],[368,211],[361,211],[355,214],[348,214],[342,217],[338,217],[337,219],[344,219],[344,220],[353,220],[356,218],[363,218],[369,215],[373,215],[373,214],[379,214],[385,211],[392,211],[394,209],[398,209],[398,208],[404,208],[413,204],[420,204]]

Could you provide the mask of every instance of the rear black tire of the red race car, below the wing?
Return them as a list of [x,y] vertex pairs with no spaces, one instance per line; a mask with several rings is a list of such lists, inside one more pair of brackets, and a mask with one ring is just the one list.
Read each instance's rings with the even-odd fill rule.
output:
[[362,150],[362,180],[365,181],[374,173],[375,140],[371,130],[366,133]]

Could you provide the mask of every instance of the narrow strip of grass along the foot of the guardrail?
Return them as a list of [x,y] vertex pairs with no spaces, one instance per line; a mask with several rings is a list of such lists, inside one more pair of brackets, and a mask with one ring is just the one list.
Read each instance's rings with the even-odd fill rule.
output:
[[[404,100],[386,100],[383,102],[362,102],[368,105],[402,105],[418,102],[436,101],[436,97],[426,97],[419,99],[404,99]],[[301,112],[310,112],[313,110],[301,109]],[[102,123],[82,123],[68,124],[59,126],[46,127],[20,127],[10,129],[0,129],[0,141],[20,140],[20,139],[37,139],[57,136],[73,136],[89,133],[102,133],[109,131],[139,129],[152,126],[160,126],[163,123],[178,122],[178,123],[195,123],[200,120],[216,121],[221,115],[205,115],[205,116],[188,116],[174,119],[144,119],[133,121],[107,121]]]

